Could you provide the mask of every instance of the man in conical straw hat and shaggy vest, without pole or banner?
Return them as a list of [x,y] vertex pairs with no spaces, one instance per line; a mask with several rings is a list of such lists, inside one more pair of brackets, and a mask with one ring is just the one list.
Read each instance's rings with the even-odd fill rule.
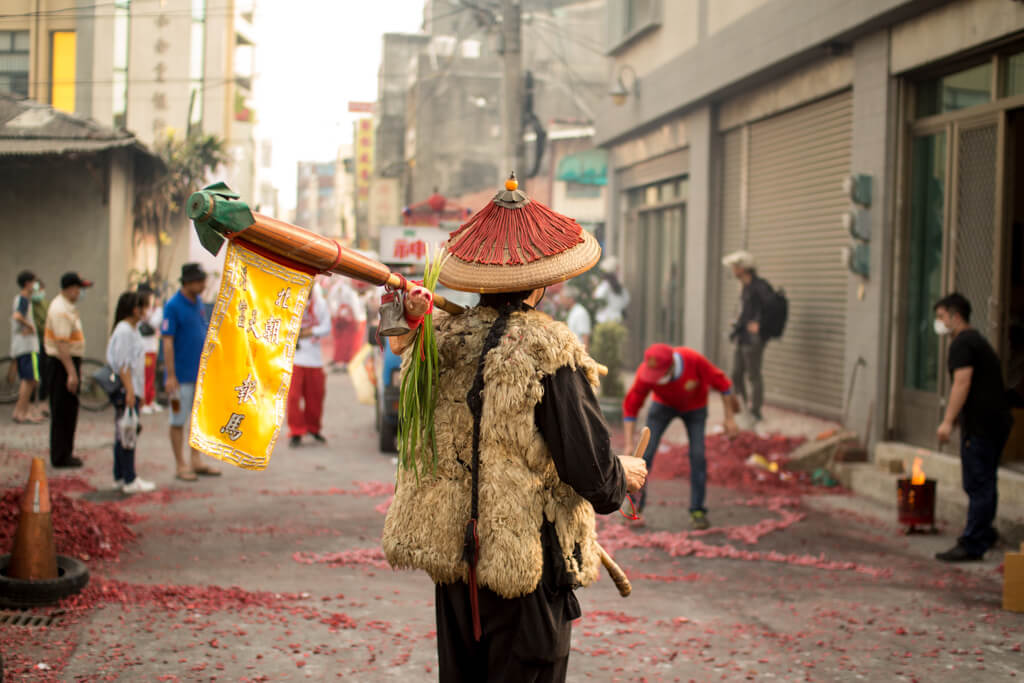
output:
[[[611,453],[594,361],[535,310],[600,247],[511,179],[447,251],[440,282],[481,299],[436,322],[436,465],[399,469],[384,551],[435,583],[441,681],[563,681],[572,591],[601,563],[594,513],[617,510],[646,477],[639,458]],[[426,290],[409,297],[414,328],[428,306]]]

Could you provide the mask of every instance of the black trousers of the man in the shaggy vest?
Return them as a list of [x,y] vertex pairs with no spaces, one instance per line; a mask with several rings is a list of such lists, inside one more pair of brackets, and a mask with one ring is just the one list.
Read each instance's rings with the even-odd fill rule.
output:
[[480,642],[473,638],[469,587],[438,584],[438,679],[441,683],[559,683],[569,664],[572,620],[580,603],[569,590],[540,586],[527,596],[506,599],[479,589]]

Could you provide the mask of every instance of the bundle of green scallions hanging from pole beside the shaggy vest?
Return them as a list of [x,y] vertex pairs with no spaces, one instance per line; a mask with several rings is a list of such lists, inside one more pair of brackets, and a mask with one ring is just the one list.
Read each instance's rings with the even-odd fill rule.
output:
[[[431,293],[437,288],[445,253],[439,249],[431,259],[427,256],[423,286]],[[437,467],[437,441],[434,437],[434,407],[437,403],[437,340],[434,338],[433,315],[428,313],[416,333],[409,350],[409,365],[401,381],[398,401],[398,466],[420,473],[434,472]]]

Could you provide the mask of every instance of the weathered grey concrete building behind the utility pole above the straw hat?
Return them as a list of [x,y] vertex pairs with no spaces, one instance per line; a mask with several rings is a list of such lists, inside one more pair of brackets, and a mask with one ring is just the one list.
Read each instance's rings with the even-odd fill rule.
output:
[[[593,122],[606,87],[606,60],[593,43],[604,24],[605,0],[524,2],[521,16],[528,141],[527,168],[516,171],[528,184],[531,173],[550,166],[551,146],[543,141],[556,122]],[[445,197],[492,190],[512,170],[502,168],[500,17],[438,1],[426,4],[424,17],[429,40],[416,54],[406,94],[409,204],[434,190]],[[379,150],[388,148],[390,135],[389,128],[378,129]]]

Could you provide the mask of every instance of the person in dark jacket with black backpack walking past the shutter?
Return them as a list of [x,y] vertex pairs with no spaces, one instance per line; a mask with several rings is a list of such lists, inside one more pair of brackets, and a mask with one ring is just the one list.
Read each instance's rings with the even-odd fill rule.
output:
[[722,259],[722,264],[732,268],[732,273],[743,285],[739,295],[739,317],[732,326],[729,340],[735,342],[736,352],[732,361],[732,384],[736,395],[746,401],[746,379],[751,381],[749,408],[754,421],[761,422],[764,403],[764,378],[761,374],[765,343],[782,336],[785,327],[785,295],[772,289],[758,275],[754,255],[737,251]]

